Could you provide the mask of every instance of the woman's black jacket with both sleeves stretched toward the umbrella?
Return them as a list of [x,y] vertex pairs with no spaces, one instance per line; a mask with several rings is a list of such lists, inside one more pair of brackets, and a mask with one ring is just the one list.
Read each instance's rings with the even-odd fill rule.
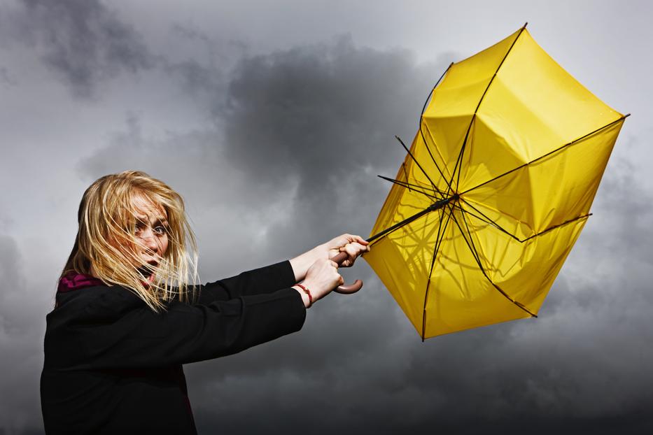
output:
[[57,292],[47,317],[41,408],[48,434],[196,434],[181,364],[298,331],[306,310],[281,262],[203,285],[154,313],[129,290]]

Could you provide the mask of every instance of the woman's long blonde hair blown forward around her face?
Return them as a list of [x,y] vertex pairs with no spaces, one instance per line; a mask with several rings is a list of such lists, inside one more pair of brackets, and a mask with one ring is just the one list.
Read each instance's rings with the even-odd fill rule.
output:
[[[168,248],[156,266],[141,264],[136,246],[135,196],[141,196],[167,213]],[[135,292],[153,309],[165,309],[166,301],[195,297],[197,243],[188,224],[183,199],[168,185],[140,171],[125,171],[96,180],[84,192],[78,211],[79,229],[62,277],[71,271],[94,276],[107,285]],[[155,282],[143,285],[148,273]],[[191,296],[189,297],[189,294]]]

